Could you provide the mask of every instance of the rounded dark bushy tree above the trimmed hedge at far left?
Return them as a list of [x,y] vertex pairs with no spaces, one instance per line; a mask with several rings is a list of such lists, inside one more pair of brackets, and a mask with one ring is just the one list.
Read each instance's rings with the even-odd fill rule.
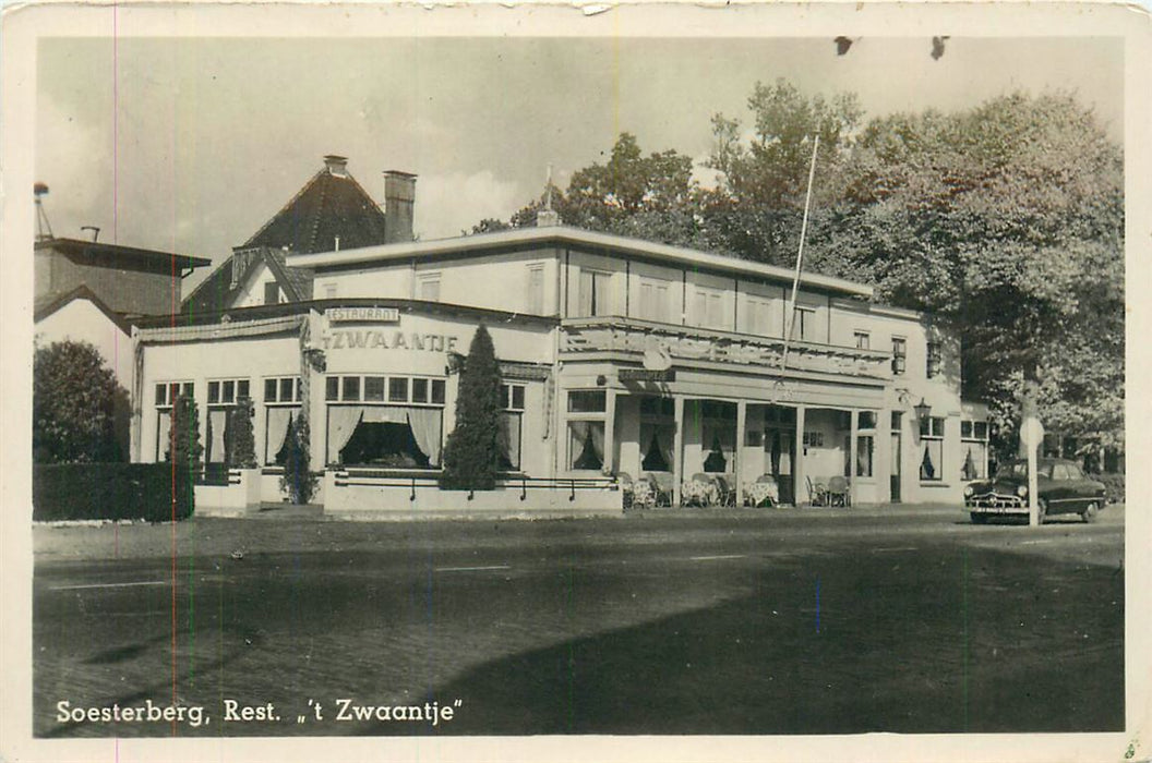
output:
[[88,342],[37,348],[32,361],[32,457],[38,464],[124,460],[118,420],[128,391]]

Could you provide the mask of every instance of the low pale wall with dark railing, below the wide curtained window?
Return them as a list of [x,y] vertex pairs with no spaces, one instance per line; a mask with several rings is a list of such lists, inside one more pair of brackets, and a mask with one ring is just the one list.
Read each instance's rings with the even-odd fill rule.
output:
[[623,514],[612,480],[502,480],[495,490],[441,490],[432,476],[324,474],[324,514],[341,519],[414,517],[581,517]]

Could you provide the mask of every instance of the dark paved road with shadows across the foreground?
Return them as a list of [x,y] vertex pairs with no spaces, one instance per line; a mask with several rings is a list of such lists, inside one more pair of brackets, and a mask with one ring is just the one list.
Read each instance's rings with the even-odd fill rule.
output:
[[[1123,725],[1122,508],[37,533],[41,735]],[[147,719],[174,702],[211,720]]]

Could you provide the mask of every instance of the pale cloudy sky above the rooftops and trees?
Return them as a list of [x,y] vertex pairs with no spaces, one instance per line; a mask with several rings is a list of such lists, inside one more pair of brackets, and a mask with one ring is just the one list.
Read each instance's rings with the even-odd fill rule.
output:
[[[602,162],[621,131],[698,165],[711,117],[746,125],[755,84],[851,91],[867,116],[955,110],[1063,90],[1123,135],[1114,38],[47,38],[37,60],[36,176],[56,236],[228,257],[321,167],[377,201],[418,175],[416,234],[460,235],[539,196],[547,167]],[[711,182],[702,167],[699,178]],[[202,269],[185,289],[207,274]]]

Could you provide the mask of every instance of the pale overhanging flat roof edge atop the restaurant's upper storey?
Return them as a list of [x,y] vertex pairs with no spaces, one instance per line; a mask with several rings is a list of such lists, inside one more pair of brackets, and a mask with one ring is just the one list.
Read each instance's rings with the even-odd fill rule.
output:
[[[567,226],[550,226],[546,228],[516,228],[491,234],[457,236],[426,242],[400,242],[364,246],[361,249],[342,249],[333,252],[313,254],[288,254],[288,265],[293,267],[310,267],[324,270],[332,267],[350,265],[372,265],[373,262],[391,264],[412,258],[435,259],[440,255],[461,254],[468,252],[486,252],[501,249],[522,247],[525,245],[569,245],[592,249],[612,250],[653,260],[675,262],[682,266],[694,266],[707,270],[722,270],[737,275],[757,276],[773,281],[791,283],[795,273],[790,268],[776,265],[752,262],[723,254],[712,254],[683,246],[669,246],[653,242],[600,234]],[[804,273],[801,283],[825,291],[833,291],[856,297],[872,297],[872,287],[846,279],[838,279],[819,273]]]

